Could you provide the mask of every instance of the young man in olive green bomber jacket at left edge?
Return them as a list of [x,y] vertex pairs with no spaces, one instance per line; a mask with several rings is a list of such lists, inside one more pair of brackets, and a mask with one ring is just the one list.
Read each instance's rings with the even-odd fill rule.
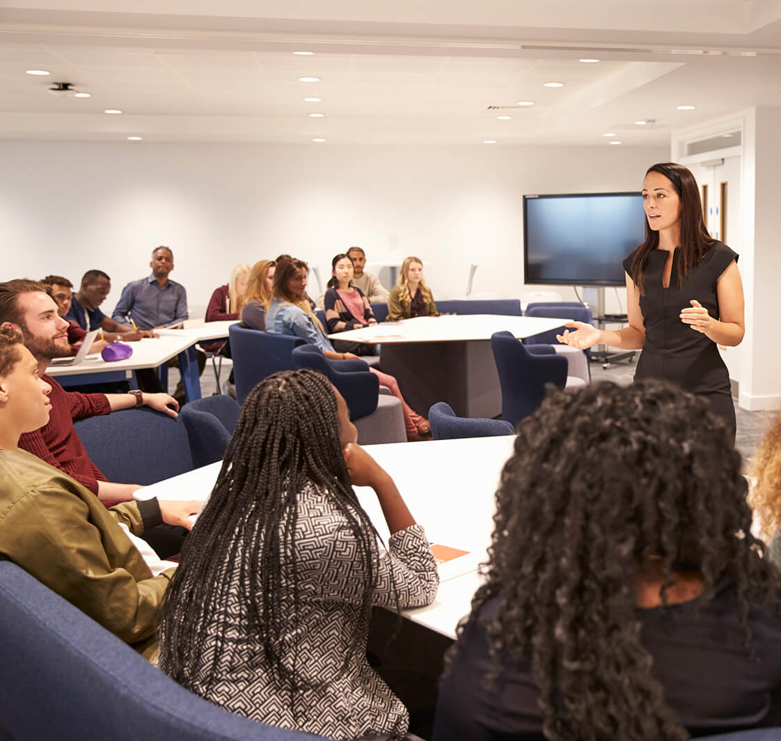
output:
[[[19,448],[43,427],[49,384],[20,335],[0,328],[0,559],[11,560],[152,658],[155,618],[173,569],[152,575],[131,534],[190,527],[198,502],[127,502],[106,510],[73,478]],[[158,562],[159,563],[159,562]]]

